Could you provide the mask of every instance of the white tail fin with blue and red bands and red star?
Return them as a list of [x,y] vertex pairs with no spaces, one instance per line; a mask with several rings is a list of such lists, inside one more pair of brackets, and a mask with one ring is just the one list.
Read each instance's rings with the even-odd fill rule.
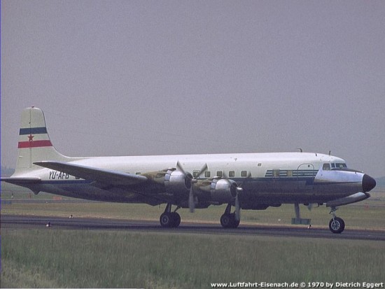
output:
[[[18,171],[26,171],[37,167],[34,162],[43,160],[69,161],[71,157],[65,157],[52,146],[45,125],[44,113],[34,106],[22,111],[22,123],[19,132]],[[39,167],[40,168],[40,167]]]

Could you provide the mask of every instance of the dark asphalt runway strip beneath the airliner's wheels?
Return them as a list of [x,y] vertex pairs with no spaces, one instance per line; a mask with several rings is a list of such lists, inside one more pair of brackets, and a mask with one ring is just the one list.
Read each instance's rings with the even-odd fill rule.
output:
[[[51,227],[46,227],[50,223]],[[156,221],[114,220],[102,218],[61,218],[41,216],[1,215],[1,228],[47,230],[120,230],[128,232],[165,232],[173,234],[218,234],[235,236],[306,237],[324,239],[350,239],[385,241],[383,230],[352,230],[332,234],[328,229],[307,227],[284,227],[267,225],[239,225],[237,229],[224,229],[219,224],[181,223],[178,228],[163,228]]]

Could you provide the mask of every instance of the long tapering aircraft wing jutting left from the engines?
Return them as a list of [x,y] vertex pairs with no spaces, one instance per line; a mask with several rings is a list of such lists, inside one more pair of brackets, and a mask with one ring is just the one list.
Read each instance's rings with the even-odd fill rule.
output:
[[112,185],[113,187],[124,185],[136,185],[148,180],[146,176],[136,174],[126,174],[120,171],[111,171],[109,169],[98,169],[95,167],[86,167],[80,164],[71,164],[69,162],[34,162],[41,167],[62,171],[71,176],[83,178],[89,181],[95,181],[94,185]]

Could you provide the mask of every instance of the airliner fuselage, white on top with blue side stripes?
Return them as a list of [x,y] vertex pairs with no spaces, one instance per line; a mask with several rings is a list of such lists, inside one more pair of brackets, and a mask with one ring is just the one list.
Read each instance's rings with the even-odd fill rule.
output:
[[[265,209],[283,203],[323,203],[361,192],[363,173],[336,168],[333,176],[346,175],[328,183],[322,178],[323,165],[345,164],[344,160],[319,153],[243,153],[216,155],[158,155],[134,157],[85,157],[76,158],[72,164],[97,167],[130,174],[144,174],[176,168],[179,162],[185,171],[195,174],[207,164],[207,169],[197,179],[225,176],[243,188],[239,196],[242,209]],[[335,167],[335,166],[334,166]],[[224,175],[223,175],[224,173]],[[23,174],[23,176],[26,176]],[[35,169],[30,176],[41,178],[33,185],[34,191],[52,192],[58,195],[106,202],[145,202],[161,204],[173,202],[162,192],[162,186],[132,185],[126,188],[98,188],[90,181],[76,178],[52,169]],[[198,196],[198,200],[200,197]],[[202,197],[201,206],[221,204]],[[183,204],[182,204],[183,206]],[[198,206],[199,207],[199,206]]]

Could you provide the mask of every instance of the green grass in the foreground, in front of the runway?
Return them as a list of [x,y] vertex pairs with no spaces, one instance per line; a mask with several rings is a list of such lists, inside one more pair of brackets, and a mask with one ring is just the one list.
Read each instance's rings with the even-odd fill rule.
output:
[[209,288],[381,282],[385,244],[81,230],[1,230],[1,287]]

